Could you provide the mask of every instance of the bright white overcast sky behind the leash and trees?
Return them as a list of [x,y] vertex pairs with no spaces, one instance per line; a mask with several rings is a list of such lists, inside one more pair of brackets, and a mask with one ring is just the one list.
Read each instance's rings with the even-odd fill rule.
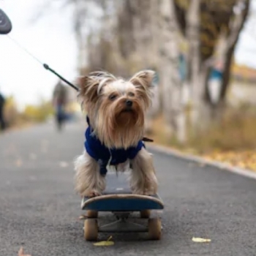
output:
[[[255,0],[253,0],[255,2]],[[21,4],[22,2],[22,4]],[[77,51],[68,10],[49,12],[39,21],[31,18],[44,0],[0,0],[0,8],[12,20],[10,37],[26,47],[34,56],[73,80],[76,73]],[[236,61],[256,68],[256,33],[242,33],[236,48]],[[36,104],[40,97],[49,99],[58,78],[6,35],[0,36],[0,91],[13,95],[20,108]]]

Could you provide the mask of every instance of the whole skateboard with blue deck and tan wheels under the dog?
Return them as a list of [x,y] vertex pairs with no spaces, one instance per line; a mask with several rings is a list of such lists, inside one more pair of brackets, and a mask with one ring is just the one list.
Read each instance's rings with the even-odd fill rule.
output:
[[[148,233],[148,238],[151,240],[161,239],[161,220],[159,217],[151,217],[151,210],[164,208],[159,195],[132,194],[127,183],[127,175],[123,173],[118,173],[118,175],[108,173],[106,184],[107,187],[102,195],[83,197],[81,201],[82,210],[86,210],[87,219],[83,225],[86,241],[96,241],[98,233],[131,232]],[[99,225],[100,211],[111,212],[116,220],[105,225]],[[139,217],[132,216],[134,212],[138,212]]]

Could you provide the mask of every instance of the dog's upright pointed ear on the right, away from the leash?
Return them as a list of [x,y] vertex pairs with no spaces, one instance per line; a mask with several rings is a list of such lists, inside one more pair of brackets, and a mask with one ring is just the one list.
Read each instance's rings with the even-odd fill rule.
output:
[[152,80],[154,79],[155,72],[147,69],[136,73],[129,82],[141,89],[148,90],[152,87]]

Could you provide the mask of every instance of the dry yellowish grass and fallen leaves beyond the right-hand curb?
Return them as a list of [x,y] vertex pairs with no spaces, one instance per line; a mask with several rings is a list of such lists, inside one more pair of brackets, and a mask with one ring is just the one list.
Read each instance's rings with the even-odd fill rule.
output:
[[211,124],[195,138],[189,136],[185,145],[168,138],[164,124],[162,116],[152,122],[148,136],[155,143],[256,171],[256,108],[241,106],[227,110],[221,121]]

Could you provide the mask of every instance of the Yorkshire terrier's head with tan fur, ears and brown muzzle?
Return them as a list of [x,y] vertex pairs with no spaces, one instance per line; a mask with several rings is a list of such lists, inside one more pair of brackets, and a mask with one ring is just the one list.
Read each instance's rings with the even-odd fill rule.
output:
[[108,143],[106,139],[112,137],[113,141],[117,140],[115,132],[122,137],[119,142],[127,136],[131,141],[134,141],[132,136],[138,139],[135,134],[141,135],[145,113],[151,105],[153,78],[154,71],[143,70],[129,80],[116,78],[108,72],[91,72],[79,79],[78,97],[81,99],[82,109],[88,114],[91,125],[102,142],[109,146],[119,144],[117,141]]

